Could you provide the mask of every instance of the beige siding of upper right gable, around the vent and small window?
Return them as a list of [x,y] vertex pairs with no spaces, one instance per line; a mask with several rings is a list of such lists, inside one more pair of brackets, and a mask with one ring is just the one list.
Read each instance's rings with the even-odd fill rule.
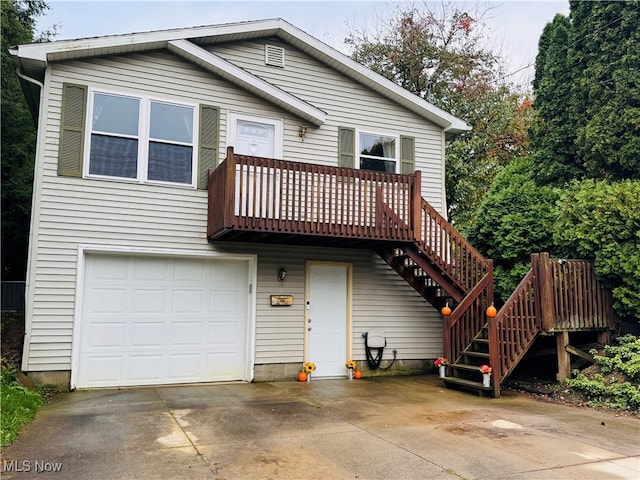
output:
[[[285,68],[265,65],[265,43],[285,48]],[[285,158],[288,153],[306,160],[313,149],[311,161],[335,165],[339,126],[415,137],[416,169],[422,171],[422,195],[443,213],[443,137],[435,124],[279,40],[216,45],[209,49],[327,112],[326,124],[320,129],[310,127],[304,142],[294,138],[292,145],[285,144]]]

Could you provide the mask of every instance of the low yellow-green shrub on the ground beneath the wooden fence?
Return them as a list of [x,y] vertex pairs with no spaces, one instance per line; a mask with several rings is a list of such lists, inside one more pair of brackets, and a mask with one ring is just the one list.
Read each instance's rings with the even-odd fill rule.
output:
[[640,409],[640,337],[624,335],[617,345],[607,345],[604,355],[591,350],[600,373],[575,372],[567,384],[588,399],[592,406],[621,410]]

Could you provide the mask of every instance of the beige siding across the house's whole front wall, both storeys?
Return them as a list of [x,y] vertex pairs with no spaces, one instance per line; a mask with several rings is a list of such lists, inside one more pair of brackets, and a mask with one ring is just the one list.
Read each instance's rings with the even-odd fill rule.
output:
[[[263,47],[259,50],[263,51]],[[301,74],[305,64],[313,63],[295,52],[299,58],[296,64],[294,52],[290,49],[287,52],[288,63],[297,69],[296,74]],[[231,110],[283,118],[285,158],[325,164],[336,162],[338,125],[348,123],[378,131],[393,127],[398,134],[415,135],[417,168],[428,169],[423,176],[424,188],[428,198],[438,205],[442,198],[441,182],[438,179],[430,183],[427,179],[439,178],[441,172],[440,159],[436,159],[441,151],[440,132],[424,122],[414,121],[413,114],[382,102],[373,92],[349,81],[345,84],[345,77],[336,72],[319,65],[315,68],[318,75],[327,77],[326,84],[334,85],[334,89],[320,89],[324,91],[322,98],[308,98],[310,93],[299,90],[302,87],[292,86],[292,93],[330,112],[329,121],[312,130],[301,142],[297,135],[299,119],[167,52],[51,65],[41,107],[41,125],[45,126],[40,131],[35,175],[24,370],[68,371],[71,368],[79,244],[257,254],[257,365],[303,361],[303,305],[295,304],[285,312],[270,307],[268,302],[269,295],[283,287],[295,298],[304,298],[307,260],[345,261],[354,265],[355,359],[365,358],[360,335],[372,328],[387,333],[389,348],[396,348],[399,358],[424,359],[440,354],[439,315],[372,252],[290,247],[285,251],[257,245],[209,244],[206,191],[57,175],[62,83],[72,82],[109,91],[219,106],[221,159],[226,147],[227,113]],[[340,82],[346,92],[342,95],[346,97],[336,99]],[[313,92],[313,87],[320,82],[314,78],[302,84]],[[284,83],[281,86],[287,87]],[[353,98],[366,108],[345,108],[342,103],[345,98]],[[345,113],[333,113],[336,108],[344,109]],[[381,119],[384,119],[383,127],[380,127]],[[408,128],[408,125],[413,126]],[[427,158],[433,161],[428,162]],[[283,258],[287,259],[284,263]],[[290,275],[284,286],[276,279],[276,272],[283,265]]]

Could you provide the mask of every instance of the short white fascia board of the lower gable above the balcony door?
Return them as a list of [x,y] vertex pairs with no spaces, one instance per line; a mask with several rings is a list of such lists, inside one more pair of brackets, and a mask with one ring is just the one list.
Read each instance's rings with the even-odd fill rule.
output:
[[269,100],[285,110],[319,127],[326,120],[326,113],[313,105],[279,89],[278,87],[250,74],[225,59],[187,40],[170,40],[167,49],[176,55],[209,70],[225,80]]

